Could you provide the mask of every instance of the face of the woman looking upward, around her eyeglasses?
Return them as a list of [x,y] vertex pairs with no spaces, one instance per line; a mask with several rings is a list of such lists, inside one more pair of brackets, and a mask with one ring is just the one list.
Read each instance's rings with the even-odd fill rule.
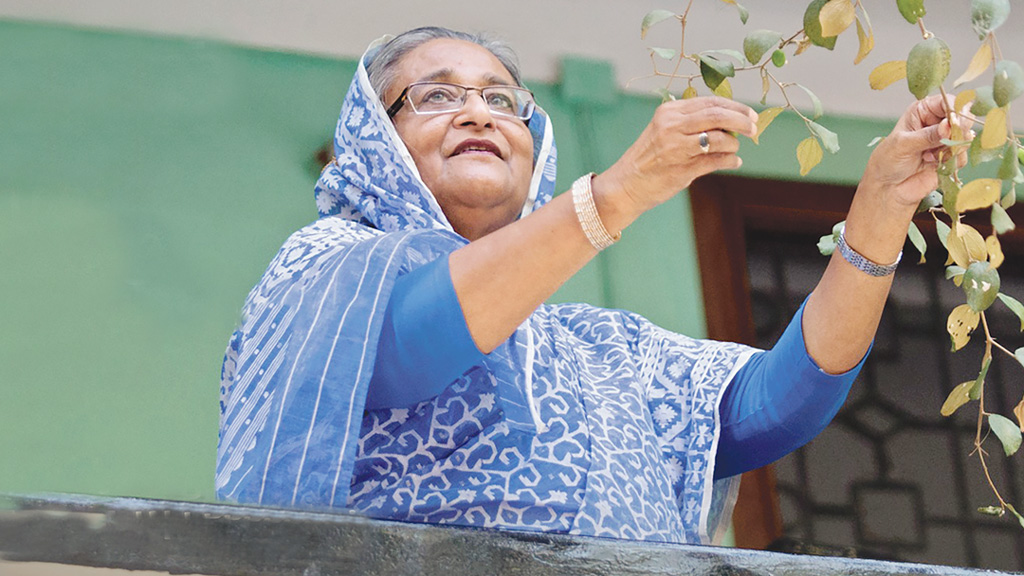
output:
[[[396,67],[385,106],[413,82],[515,85],[489,50],[462,40],[426,42]],[[479,92],[470,91],[457,112],[419,115],[406,104],[393,121],[456,232],[476,240],[518,217],[534,163],[534,140],[522,120],[493,115]]]

